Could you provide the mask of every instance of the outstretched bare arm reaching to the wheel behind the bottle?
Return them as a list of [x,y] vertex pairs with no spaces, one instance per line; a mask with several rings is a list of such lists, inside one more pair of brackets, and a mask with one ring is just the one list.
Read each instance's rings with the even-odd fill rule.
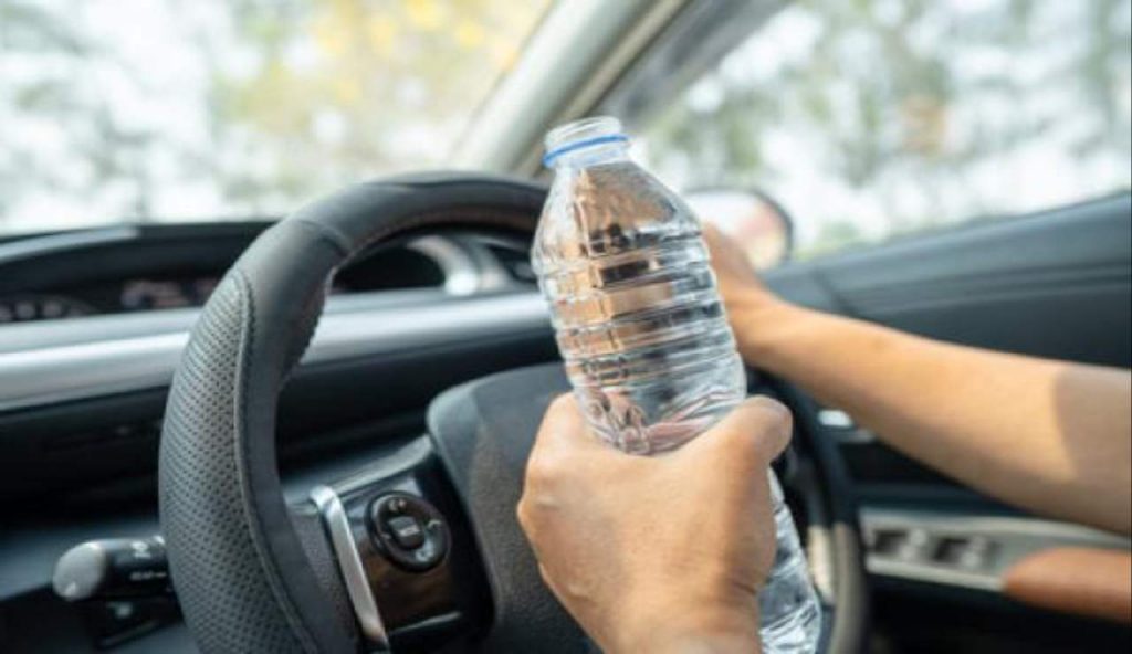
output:
[[762,286],[735,243],[706,235],[748,364],[970,487],[1130,532],[1130,371],[951,345],[796,307]]

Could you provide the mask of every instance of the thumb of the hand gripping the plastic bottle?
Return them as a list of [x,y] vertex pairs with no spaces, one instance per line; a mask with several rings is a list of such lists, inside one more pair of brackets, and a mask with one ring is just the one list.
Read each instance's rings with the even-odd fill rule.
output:
[[792,427],[786,406],[770,397],[755,396],[679,451],[691,457],[721,458],[752,472],[762,471],[789,445]]

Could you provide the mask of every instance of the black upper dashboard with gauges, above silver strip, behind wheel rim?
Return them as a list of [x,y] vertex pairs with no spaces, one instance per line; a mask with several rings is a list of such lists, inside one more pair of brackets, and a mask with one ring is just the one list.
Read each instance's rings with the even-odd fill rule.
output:
[[[267,226],[144,225],[0,240],[0,325],[199,308]],[[443,289],[458,295],[529,284],[525,260],[515,243],[422,236],[366,252],[340,272],[331,294]]]

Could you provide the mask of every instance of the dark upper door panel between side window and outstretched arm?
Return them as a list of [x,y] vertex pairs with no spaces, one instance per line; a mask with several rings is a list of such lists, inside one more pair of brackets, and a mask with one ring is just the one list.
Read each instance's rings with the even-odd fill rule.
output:
[[771,272],[814,308],[967,345],[1127,368],[1132,196]]

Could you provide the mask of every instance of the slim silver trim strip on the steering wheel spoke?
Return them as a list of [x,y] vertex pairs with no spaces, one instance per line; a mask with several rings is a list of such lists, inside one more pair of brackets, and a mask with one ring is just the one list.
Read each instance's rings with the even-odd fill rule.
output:
[[371,645],[388,652],[389,637],[385,631],[381,614],[377,610],[374,593],[369,588],[358,548],[354,547],[353,536],[350,534],[350,520],[346,518],[342,500],[334,489],[325,485],[311,489],[310,500],[323,516],[323,525],[331,537],[334,558],[338,561],[338,570],[342,573],[342,580],[346,585],[346,594],[350,596],[350,604],[353,606],[362,634]]

